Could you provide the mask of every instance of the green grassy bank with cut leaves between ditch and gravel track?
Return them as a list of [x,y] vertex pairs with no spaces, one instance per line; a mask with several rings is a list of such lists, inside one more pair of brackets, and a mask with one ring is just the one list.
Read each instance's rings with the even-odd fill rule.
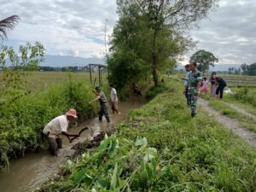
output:
[[255,150],[168,87],[40,191],[254,191]]

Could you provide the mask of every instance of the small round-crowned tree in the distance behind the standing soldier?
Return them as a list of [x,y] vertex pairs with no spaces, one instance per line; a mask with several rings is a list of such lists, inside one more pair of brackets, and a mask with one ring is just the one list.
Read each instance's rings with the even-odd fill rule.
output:
[[204,75],[210,66],[214,67],[214,62],[218,62],[218,59],[211,52],[199,50],[190,57],[190,61],[195,61],[198,64],[198,70]]

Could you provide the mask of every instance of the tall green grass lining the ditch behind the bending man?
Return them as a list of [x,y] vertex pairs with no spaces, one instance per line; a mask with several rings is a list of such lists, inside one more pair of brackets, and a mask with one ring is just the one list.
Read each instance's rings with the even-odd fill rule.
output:
[[53,85],[49,90],[17,98],[0,105],[0,168],[9,166],[9,158],[22,156],[26,150],[39,147],[44,125],[50,119],[75,108],[79,119],[96,115],[88,102],[93,98],[91,87],[70,80]]

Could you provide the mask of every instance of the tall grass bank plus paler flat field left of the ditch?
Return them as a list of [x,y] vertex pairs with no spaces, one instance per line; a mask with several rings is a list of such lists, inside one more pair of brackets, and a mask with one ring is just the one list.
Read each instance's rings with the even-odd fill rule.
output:
[[[97,106],[89,104],[95,97],[89,73],[32,72],[24,78],[29,93],[6,96],[0,105],[0,169],[9,166],[10,158],[37,149],[44,125],[69,108],[77,110],[79,121],[96,115]],[[108,94],[107,81],[103,90]]]

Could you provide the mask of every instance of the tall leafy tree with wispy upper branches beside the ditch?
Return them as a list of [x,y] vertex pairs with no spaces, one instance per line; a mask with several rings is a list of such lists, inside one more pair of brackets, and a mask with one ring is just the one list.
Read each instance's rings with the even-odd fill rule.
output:
[[[216,0],[118,0],[119,22],[112,50],[131,49],[143,59],[158,85],[158,72],[172,65],[191,44],[183,32],[207,15]],[[120,36],[119,34],[124,34]],[[118,38],[119,36],[120,38]],[[113,54],[114,55],[114,54]]]

